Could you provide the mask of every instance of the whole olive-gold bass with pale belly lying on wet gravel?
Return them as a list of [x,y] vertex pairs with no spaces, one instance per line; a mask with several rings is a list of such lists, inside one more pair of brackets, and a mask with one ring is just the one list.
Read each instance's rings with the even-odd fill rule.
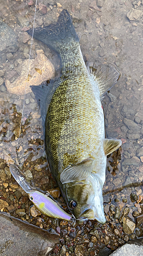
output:
[[[32,30],[27,32],[32,35]],[[110,65],[87,69],[67,10],[56,24],[36,28],[34,37],[61,59],[59,78],[32,87],[40,100],[51,174],[76,219],[96,219],[103,224],[106,156],[121,141],[105,139],[101,98],[120,74]]]

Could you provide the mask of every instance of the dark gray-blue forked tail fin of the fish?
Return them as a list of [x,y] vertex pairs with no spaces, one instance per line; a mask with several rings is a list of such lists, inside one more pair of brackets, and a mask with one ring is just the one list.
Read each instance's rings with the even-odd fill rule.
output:
[[[32,35],[32,31],[30,29],[26,32]],[[76,42],[79,41],[72,24],[71,15],[65,9],[60,13],[57,23],[50,24],[44,28],[36,28],[34,30],[34,37],[44,42],[44,44],[56,52],[59,52],[59,48],[65,41],[70,41],[71,39],[74,39]]]

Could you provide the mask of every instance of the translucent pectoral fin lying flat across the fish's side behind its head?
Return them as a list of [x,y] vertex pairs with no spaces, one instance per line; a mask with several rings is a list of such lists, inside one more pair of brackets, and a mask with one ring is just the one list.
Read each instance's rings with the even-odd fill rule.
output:
[[84,159],[81,163],[68,166],[61,173],[61,182],[69,183],[73,181],[81,181],[88,178],[92,172],[93,159]]

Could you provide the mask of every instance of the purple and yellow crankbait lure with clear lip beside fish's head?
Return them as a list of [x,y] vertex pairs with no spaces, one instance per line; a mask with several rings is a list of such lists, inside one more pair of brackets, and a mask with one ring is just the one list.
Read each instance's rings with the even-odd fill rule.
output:
[[10,172],[17,183],[28,194],[33,204],[42,212],[42,214],[48,217],[67,221],[75,220],[74,216],[67,214],[67,212],[65,212],[56,202],[49,198],[48,193],[44,195],[40,191],[34,190],[32,186],[25,180],[24,176],[15,164],[10,165]]

